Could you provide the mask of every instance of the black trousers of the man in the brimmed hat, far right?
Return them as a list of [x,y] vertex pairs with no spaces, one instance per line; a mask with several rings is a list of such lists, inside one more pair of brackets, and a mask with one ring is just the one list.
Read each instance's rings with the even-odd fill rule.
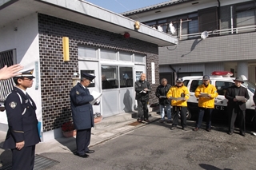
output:
[[238,116],[240,132],[246,132],[246,111],[238,109],[237,113],[234,113],[234,109],[229,114],[229,131],[234,132],[234,122]]

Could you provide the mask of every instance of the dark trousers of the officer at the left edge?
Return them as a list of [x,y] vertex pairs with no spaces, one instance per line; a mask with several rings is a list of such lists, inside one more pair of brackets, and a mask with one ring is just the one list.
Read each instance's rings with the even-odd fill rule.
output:
[[34,168],[34,149],[35,145],[26,146],[21,150],[11,149],[13,154],[12,168],[13,170],[33,170]]

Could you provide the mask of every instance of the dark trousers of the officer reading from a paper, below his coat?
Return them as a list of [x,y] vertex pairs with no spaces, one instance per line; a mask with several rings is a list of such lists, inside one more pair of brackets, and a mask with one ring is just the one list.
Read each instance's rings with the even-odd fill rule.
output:
[[90,133],[91,128],[77,130],[76,143],[77,143],[77,153],[79,155],[84,155],[87,151],[89,151],[90,144]]

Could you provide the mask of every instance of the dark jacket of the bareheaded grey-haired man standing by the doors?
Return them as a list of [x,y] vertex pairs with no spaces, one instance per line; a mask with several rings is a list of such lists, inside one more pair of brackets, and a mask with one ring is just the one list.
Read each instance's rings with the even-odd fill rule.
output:
[[[136,81],[135,82],[135,92],[136,92],[136,100],[140,101],[148,101],[149,100],[149,92],[143,93],[143,89],[151,89],[150,83],[148,81]],[[140,93],[142,92],[142,93]]]

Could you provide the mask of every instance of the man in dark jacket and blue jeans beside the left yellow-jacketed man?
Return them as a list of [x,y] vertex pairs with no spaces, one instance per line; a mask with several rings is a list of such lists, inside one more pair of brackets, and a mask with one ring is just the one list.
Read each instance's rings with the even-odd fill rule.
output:
[[166,94],[168,93],[170,87],[171,85],[167,83],[166,78],[162,78],[161,85],[158,85],[158,88],[156,89],[155,92],[155,96],[159,99],[161,123],[165,121],[165,108],[168,118],[167,123],[170,123],[171,121],[170,100],[166,97]]

